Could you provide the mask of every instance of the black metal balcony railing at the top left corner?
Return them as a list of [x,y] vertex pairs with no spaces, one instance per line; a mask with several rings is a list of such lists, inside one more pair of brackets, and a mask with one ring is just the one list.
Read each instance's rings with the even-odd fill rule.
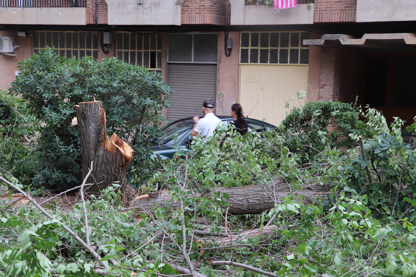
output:
[[0,0],[0,7],[86,7],[87,0]]

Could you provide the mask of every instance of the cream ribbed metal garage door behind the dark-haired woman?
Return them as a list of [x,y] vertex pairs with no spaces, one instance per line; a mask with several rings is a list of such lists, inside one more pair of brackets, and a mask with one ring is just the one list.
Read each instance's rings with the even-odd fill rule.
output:
[[[245,115],[279,125],[290,108],[303,105],[297,91],[306,91],[308,65],[240,65],[240,104]],[[295,100],[289,101],[294,97]],[[290,108],[285,108],[289,101]]]

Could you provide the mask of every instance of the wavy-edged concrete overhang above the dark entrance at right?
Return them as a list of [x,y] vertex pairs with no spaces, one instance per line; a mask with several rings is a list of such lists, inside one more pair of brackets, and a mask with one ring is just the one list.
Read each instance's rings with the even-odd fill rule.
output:
[[303,44],[316,46],[345,45],[388,49],[405,45],[416,45],[416,34],[364,34],[360,39],[348,34],[324,34],[321,39],[304,39]]

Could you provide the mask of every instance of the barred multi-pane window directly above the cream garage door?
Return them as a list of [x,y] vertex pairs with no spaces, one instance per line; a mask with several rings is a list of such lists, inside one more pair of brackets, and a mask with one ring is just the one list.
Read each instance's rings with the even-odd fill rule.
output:
[[308,64],[308,32],[242,32],[242,64]]

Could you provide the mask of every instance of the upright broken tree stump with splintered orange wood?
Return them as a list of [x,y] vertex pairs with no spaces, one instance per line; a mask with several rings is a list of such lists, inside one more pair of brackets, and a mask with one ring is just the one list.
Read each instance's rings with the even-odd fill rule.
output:
[[133,149],[115,133],[106,132],[106,112],[101,101],[82,102],[75,106],[79,139],[82,147],[82,177],[85,178],[93,161],[92,176],[87,194],[100,194],[102,189],[119,181],[123,201],[128,203],[137,192],[127,184],[126,172],[133,157]]

